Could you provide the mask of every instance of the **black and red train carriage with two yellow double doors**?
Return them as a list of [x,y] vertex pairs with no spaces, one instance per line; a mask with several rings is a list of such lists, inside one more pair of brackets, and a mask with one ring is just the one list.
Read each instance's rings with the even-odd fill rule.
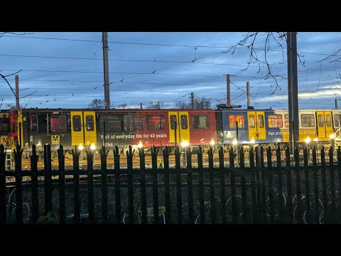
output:
[[151,146],[214,145],[215,110],[41,110],[11,111],[16,144],[43,151],[51,144],[64,149],[126,149]]

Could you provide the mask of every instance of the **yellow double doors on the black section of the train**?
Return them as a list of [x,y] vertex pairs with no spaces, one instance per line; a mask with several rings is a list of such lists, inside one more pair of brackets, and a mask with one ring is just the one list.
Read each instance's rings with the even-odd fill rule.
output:
[[71,112],[71,138],[72,146],[97,145],[94,111]]

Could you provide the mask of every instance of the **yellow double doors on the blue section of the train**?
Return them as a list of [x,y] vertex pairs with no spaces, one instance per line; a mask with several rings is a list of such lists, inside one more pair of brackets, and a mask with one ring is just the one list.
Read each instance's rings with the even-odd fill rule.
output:
[[249,139],[266,139],[264,111],[248,111]]

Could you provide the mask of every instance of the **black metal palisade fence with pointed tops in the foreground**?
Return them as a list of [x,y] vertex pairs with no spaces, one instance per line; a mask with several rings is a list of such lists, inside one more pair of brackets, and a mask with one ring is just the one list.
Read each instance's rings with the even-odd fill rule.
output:
[[[266,150],[266,165],[264,153]],[[341,152],[334,149],[310,152],[306,147],[289,149],[285,155],[258,146],[238,154],[219,149],[215,167],[213,149],[203,167],[202,149],[186,149],[187,166],[169,167],[169,149],[151,149],[151,166],[145,166],[139,149],[139,169],[133,151],[126,151],[127,168],[120,168],[114,149],[114,169],[107,168],[108,151],[100,150],[101,168],[94,169],[87,151],[87,169],[80,169],[80,151],[72,151],[73,169],[65,170],[65,151],[58,149],[58,170],[51,168],[50,145],[44,147],[44,169],[38,170],[33,145],[31,170],[21,169],[22,150],[14,150],[15,171],[5,169],[4,146],[0,146],[0,223],[340,223]],[[303,154],[301,154],[303,152]],[[311,153],[311,154],[310,154]],[[158,166],[158,154],[163,166]],[[224,163],[229,154],[229,164]],[[276,160],[274,161],[274,154]],[[195,156],[196,155],[196,156]],[[328,157],[326,157],[329,156]],[[193,156],[197,167],[193,168]],[[238,158],[236,159],[236,157]],[[311,156],[311,161],[308,161]],[[247,158],[248,166],[245,167]],[[328,159],[328,163],[326,163]],[[235,167],[235,163],[239,167]],[[294,164],[291,164],[294,163]],[[9,180],[15,186],[9,186]]]

